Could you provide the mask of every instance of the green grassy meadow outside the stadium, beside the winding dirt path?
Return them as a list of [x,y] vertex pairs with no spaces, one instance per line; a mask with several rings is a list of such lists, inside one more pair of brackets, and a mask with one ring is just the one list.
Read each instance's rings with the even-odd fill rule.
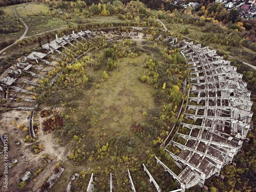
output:
[[[69,19],[62,19],[49,15],[50,9],[44,4],[36,4],[36,3],[25,3],[7,7],[0,7],[1,10],[7,15],[14,15],[13,10],[16,11],[17,15],[24,20],[24,22],[28,26],[28,32],[25,37],[34,36],[36,34],[44,33],[50,30],[55,30],[63,27],[74,27],[78,24],[89,24],[89,23],[114,23],[114,22],[124,22],[117,18],[117,16],[110,16],[110,17],[91,17],[86,18],[82,16],[75,16],[73,13],[69,13],[71,18]],[[56,10],[52,10],[53,12]],[[25,32],[25,26],[20,23],[23,28],[15,33],[9,34],[0,34],[0,41],[4,40],[17,40],[19,39]],[[111,25],[110,25],[111,26]],[[107,26],[106,26],[107,27]],[[27,46],[29,48],[30,46]],[[34,46],[32,46],[34,47]],[[21,52],[17,45],[9,48],[6,50],[6,55],[11,55],[13,53]]]

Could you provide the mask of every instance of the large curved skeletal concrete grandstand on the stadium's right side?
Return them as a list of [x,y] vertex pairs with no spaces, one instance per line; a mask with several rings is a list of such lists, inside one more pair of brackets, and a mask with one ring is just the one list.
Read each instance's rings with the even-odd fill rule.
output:
[[[156,160],[179,183],[180,189],[175,191],[185,191],[197,184],[204,187],[207,179],[220,176],[221,169],[239,152],[251,127],[251,92],[242,74],[216,50],[201,48],[193,41],[178,42],[171,36],[164,42],[181,50],[190,78],[184,118],[164,146],[181,173],[176,175]],[[173,147],[178,147],[179,153],[168,150]]]

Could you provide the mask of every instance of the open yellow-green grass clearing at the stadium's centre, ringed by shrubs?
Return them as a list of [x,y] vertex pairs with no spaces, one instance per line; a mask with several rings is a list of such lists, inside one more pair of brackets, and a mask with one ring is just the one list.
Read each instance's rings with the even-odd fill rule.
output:
[[132,123],[143,119],[143,111],[154,108],[154,89],[137,79],[144,73],[143,61],[147,57],[143,54],[118,59],[118,72],[114,69],[109,79],[95,83],[95,89],[85,93],[81,106],[87,105],[87,111],[95,114],[90,136],[100,139],[97,135],[106,132],[105,143],[111,136],[130,135]]

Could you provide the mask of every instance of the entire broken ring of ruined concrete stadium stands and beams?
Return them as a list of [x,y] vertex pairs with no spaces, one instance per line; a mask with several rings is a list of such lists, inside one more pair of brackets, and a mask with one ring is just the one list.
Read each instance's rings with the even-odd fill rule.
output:
[[[72,64],[74,60],[69,54],[75,55],[76,59],[82,56],[69,47],[82,45],[82,41],[93,40],[95,36],[97,34],[92,31],[73,32],[61,38],[56,35],[55,40],[48,39],[48,43],[41,46],[46,53],[32,52],[22,62],[17,62],[9,70],[8,76],[1,80],[2,98],[8,101],[6,109],[31,111],[29,134],[32,138],[35,138],[33,114],[37,106],[33,96],[43,94],[38,93],[38,90],[44,87],[40,79],[49,79],[51,86],[62,73],[55,66],[57,61],[68,58]],[[242,74],[237,73],[237,68],[230,66],[230,61],[224,60],[216,50],[201,48],[200,44],[194,45],[192,41],[178,42],[176,37],[171,36],[166,37],[164,42],[181,50],[190,71],[183,120],[176,126],[177,129],[173,129],[176,132],[174,137],[164,146],[175,164],[181,168],[181,173],[176,175],[164,162],[155,158],[178,182],[180,187],[174,191],[185,191],[197,184],[204,187],[207,179],[219,176],[221,169],[232,162],[251,127],[252,101]],[[22,105],[19,105],[17,98],[24,101]],[[173,147],[177,147],[179,153],[173,153],[170,150]],[[143,168],[150,182],[160,192],[160,187],[144,164]],[[136,191],[131,174],[127,171],[132,191]],[[93,191],[93,188],[92,174],[87,191]],[[110,191],[112,188],[114,183],[111,174]]]

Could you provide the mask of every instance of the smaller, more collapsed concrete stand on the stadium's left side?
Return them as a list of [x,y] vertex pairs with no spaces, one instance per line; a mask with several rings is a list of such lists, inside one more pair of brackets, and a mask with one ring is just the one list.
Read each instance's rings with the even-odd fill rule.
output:
[[[33,88],[41,87],[38,83],[39,79],[46,79],[47,74],[49,72],[52,72],[52,70],[56,67],[54,65],[54,62],[51,62],[48,59],[50,57],[53,57],[54,60],[59,59],[57,56],[54,56],[51,53],[53,51],[56,51],[58,54],[65,55],[61,52],[61,50],[58,49],[64,48],[64,50],[69,50],[69,48],[66,45],[74,47],[75,45],[72,44],[73,41],[76,41],[78,42],[78,44],[81,44],[81,42],[78,39],[93,39],[93,37],[95,36],[97,36],[96,33],[92,31],[81,31],[78,33],[74,33],[73,31],[72,34],[68,36],[63,36],[61,38],[58,38],[56,34],[55,40],[50,42],[48,39],[48,44],[41,46],[43,49],[50,50],[49,53],[33,51],[28,56],[25,56],[24,59],[22,59],[22,62],[17,62],[14,67],[9,69],[9,76],[4,77],[0,80],[0,91],[2,92],[2,98],[8,101],[5,107],[8,107],[8,110],[16,109],[31,111],[31,115],[29,116],[29,135],[32,138],[35,138],[35,133],[33,130],[33,115],[34,108],[37,106],[37,102],[33,99],[33,96],[38,94],[30,90]],[[73,54],[75,53],[73,52]],[[68,55],[65,56],[71,58]],[[80,56],[77,55],[77,59],[79,57]],[[58,74],[56,74],[52,80],[50,80],[50,86],[52,86],[52,84],[60,74],[61,71]],[[29,93],[30,96],[22,93]],[[16,98],[19,98],[23,101],[21,106],[19,105],[19,103],[15,102],[17,100]]]

